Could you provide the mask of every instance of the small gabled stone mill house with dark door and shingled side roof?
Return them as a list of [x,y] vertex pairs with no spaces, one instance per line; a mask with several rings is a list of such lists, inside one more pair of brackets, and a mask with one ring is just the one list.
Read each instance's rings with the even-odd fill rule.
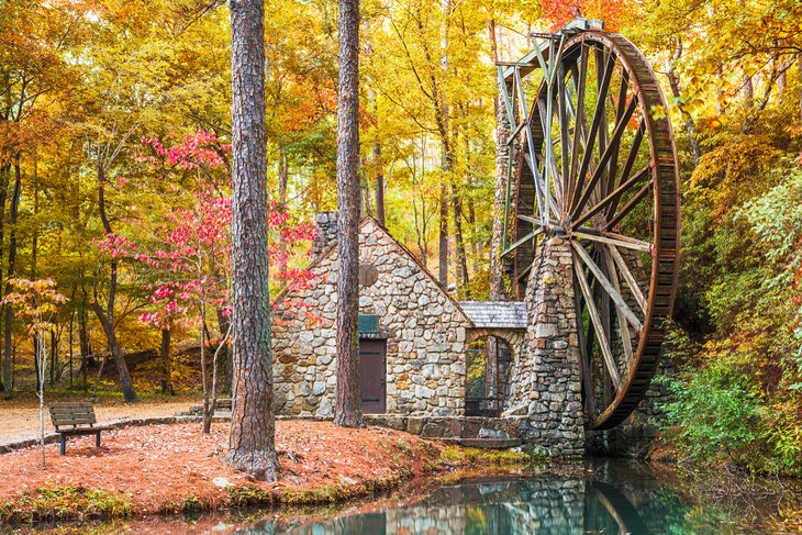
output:
[[[335,218],[332,212],[318,216],[320,237],[310,266],[313,288],[286,291],[278,298],[279,302],[302,300],[310,306],[308,316],[285,313],[274,322],[278,414],[333,415]],[[469,344],[497,334],[517,347],[525,328],[523,303],[457,302],[376,220],[361,221],[359,360],[365,413],[465,415]],[[490,389],[489,393],[498,395],[499,390],[503,391]]]

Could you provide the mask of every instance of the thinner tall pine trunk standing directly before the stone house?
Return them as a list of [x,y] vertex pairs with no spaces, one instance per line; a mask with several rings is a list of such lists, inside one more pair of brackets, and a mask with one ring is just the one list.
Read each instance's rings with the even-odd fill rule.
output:
[[359,383],[359,2],[339,0],[337,383],[334,423],[363,425]]

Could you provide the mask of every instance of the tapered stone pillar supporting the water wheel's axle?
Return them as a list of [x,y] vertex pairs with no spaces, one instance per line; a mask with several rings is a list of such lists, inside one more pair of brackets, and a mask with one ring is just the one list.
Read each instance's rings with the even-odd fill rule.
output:
[[533,436],[553,457],[584,453],[579,341],[570,244],[547,238],[526,288],[528,326],[513,366],[504,415],[526,415]]

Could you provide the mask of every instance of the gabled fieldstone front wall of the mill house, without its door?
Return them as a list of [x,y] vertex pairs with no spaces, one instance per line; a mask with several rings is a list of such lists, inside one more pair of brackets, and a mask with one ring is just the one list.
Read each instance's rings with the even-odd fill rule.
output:
[[[359,229],[359,263],[378,279],[359,288],[359,313],[379,316],[387,339],[387,412],[461,415],[465,342],[470,321],[412,255],[375,220]],[[331,416],[336,371],[336,247],[311,266],[314,287],[286,293],[318,321],[292,311],[274,321],[274,378],[279,414]]]

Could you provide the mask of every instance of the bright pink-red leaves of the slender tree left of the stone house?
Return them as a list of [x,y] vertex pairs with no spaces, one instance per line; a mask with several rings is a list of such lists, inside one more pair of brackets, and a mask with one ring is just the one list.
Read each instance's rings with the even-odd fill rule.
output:
[[[152,310],[140,320],[160,328],[172,322],[192,322],[201,304],[212,304],[229,313],[227,277],[231,272],[231,177],[225,157],[231,146],[209,132],[185,136],[180,143],[165,146],[157,137],[145,137],[143,144],[153,156],[138,159],[154,166],[161,179],[179,171],[203,169],[192,174],[191,191],[168,190],[177,196],[189,194],[188,209],[176,209],[164,219],[155,243],[135,248],[119,236],[107,238],[105,250],[114,257],[130,257],[153,270],[158,279],[146,286]],[[176,179],[180,183],[180,179]],[[169,186],[169,185],[168,185]],[[311,287],[312,274],[298,265],[309,256],[309,242],[315,236],[313,223],[296,223],[287,207],[270,201],[267,224],[270,233],[268,255],[274,288]],[[300,303],[292,302],[299,310]]]

